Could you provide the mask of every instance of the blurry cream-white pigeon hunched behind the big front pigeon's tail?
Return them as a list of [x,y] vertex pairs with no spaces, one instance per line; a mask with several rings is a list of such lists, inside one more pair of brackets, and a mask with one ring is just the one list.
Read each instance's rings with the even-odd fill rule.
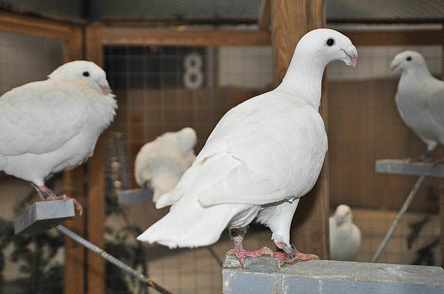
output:
[[[196,155],[197,135],[191,127],[165,133],[146,143],[137,153],[135,178],[140,187],[153,189],[153,202],[176,187]],[[167,201],[167,199],[165,199]]]

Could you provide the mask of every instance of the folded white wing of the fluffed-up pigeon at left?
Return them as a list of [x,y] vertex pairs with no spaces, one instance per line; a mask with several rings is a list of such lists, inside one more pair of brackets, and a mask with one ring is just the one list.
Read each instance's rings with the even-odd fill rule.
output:
[[53,151],[85,125],[83,93],[71,83],[51,80],[12,89],[0,98],[0,153]]

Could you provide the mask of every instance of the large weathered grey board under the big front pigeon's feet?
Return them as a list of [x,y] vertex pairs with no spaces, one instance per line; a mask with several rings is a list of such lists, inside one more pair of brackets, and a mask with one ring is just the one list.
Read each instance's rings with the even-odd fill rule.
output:
[[444,293],[444,270],[437,266],[368,264],[353,261],[311,260],[284,264],[271,257],[246,259],[240,268],[227,257],[223,293]]

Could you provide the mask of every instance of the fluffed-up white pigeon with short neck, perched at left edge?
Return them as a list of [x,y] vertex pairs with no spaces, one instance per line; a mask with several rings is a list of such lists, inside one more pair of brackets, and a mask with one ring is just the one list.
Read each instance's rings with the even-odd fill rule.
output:
[[42,200],[66,199],[44,180],[92,156],[115,109],[105,71],[83,60],[8,91],[0,97],[0,170],[30,181]]

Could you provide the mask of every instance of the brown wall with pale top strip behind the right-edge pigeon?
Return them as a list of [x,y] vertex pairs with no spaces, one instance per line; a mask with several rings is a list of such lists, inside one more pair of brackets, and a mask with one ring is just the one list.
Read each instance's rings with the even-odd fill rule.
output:
[[[327,67],[330,201],[361,208],[399,210],[413,187],[413,176],[377,174],[375,160],[416,157],[425,145],[404,125],[395,107],[400,73],[389,64],[403,50],[417,50],[441,77],[441,46],[358,47],[356,68]],[[434,152],[442,156],[441,148]],[[436,212],[442,181],[427,178],[410,207]]]

